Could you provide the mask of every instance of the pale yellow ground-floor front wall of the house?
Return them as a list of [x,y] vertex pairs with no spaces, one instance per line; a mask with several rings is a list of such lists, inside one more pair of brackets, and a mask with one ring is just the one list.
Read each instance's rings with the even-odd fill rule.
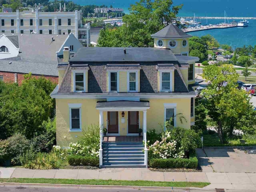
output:
[[[190,117],[190,98],[173,98],[173,99],[147,99],[150,102],[150,109],[147,110],[147,130],[156,129],[161,132],[159,123],[164,124],[164,103],[176,103],[176,113],[182,113],[187,122],[183,124],[176,118],[176,126],[190,128],[190,122],[193,118]],[[70,114],[68,104],[82,104],[82,130],[91,124],[99,124],[99,111],[96,110],[97,100],[94,99],[56,99],[56,136],[57,145],[67,147],[70,142],[76,142],[82,132],[69,132]],[[119,133],[120,135],[127,134],[128,128],[128,112],[124,111],[125,122],[121,122],[122,111],[118,112],[119,116]],[[139,125],[143,128],[143,112],[139,112]],[[104,112],[104,128],[106,128],[107,112]],[[66,137],[66,138],[65,138]]]

